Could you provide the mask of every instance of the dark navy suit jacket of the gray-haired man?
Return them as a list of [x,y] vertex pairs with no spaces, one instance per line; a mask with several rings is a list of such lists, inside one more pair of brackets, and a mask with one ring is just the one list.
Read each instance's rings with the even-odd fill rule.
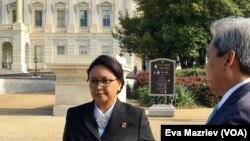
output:
[[250,83],[234,91],[207,124],[250,124]]

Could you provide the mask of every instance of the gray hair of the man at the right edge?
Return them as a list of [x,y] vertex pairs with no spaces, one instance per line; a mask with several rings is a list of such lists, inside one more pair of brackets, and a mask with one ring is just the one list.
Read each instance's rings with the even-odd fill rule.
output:
[[243,73],[250,74],[250,18],[228,17],[215,21],[210,30],[217,56],[234,50]]

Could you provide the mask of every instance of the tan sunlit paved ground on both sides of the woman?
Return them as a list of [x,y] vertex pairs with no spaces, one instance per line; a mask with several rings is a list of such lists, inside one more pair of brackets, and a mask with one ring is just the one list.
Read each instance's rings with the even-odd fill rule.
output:
[[[0,94],[0,141],[61,141],[65,117],[52,116],[54,103],[54,92]],[[174,117],[149,121],[160,141],[162,124],[204,124],[210,112],[210,108],[175,109]]]

